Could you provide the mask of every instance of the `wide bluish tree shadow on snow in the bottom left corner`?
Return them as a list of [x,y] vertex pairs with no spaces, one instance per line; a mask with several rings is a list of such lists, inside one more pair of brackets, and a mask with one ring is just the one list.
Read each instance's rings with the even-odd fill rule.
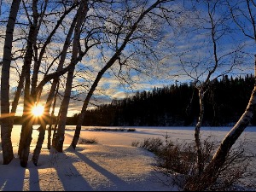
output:
[[22,191],[26,169],[20,167],[19,160],[0,166],[0,191]]

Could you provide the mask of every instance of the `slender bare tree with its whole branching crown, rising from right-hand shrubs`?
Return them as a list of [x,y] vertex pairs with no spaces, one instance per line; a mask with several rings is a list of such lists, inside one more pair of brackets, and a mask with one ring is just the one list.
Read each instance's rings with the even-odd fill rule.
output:
[[[189,10],[181,15],[177,42],[172,45],[172,56],[182,64],[181,74],[192,79],[193,85],[198,92],[200,113],[195,125],[195,147],[197,154],[197,172],[199,176],[204,172],[205,160],[201,146],[201,126],[204,119],[205,97],[212,89],[212,84],[219,77],[229,74],[241,61],[237,45],[225,49],[224,40],[230,38],[230,17],[222,9],[223,1],[199,1],[192,2]],[[181,39],[181,41],[178,41]],[[180,44],[185,44],[180,46]],[[175,59],[174,59],[175,61]],[[179,66],[177,66],[180,68]],[[174,74],[178,78],[181,75]],[[194,93],[193,93],[194,94]]]

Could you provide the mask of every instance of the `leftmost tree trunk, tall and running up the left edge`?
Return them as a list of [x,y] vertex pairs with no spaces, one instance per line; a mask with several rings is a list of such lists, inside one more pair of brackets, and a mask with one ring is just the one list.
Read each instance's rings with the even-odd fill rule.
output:
[[14,0],[11,5],[9,20],[6,27],[6,37],[3,49],[3,67],[1,76],[1,139],[3,149],[3,164],[9,164],[14,158],[11,142],[11,126],[9,119],[9,71],[11,64],[11,52],[13,46],[15,20],[20,7],[20,0]]

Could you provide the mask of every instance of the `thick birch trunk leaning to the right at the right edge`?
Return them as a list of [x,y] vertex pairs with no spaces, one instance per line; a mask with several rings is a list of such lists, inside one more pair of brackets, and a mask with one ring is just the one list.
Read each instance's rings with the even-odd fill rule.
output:
[[201,174],[201,177],[193,181],[193,183],[187,183],[184,190],[198,190],[203,191],[215,183],[218,179],[218,173],[224,166],[224,162],[230,152],[230,148],[236,143],[236,140],[241,136],[241,133],[245,130],[247,125],[253,119],[254,109],[256,108],[256,55],[254,64],[254,88],[247,104],[245,112],[241,115],[241,118],[237,121],[236,125],[231,131],[224,137],[224,140],[217,149],[217,152],[212,157],[211,162],[205,168],[205,171]]

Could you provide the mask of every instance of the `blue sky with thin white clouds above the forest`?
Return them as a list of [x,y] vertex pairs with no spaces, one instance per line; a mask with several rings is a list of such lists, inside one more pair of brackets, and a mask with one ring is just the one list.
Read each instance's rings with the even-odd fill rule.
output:
[[[4,20],[6,14],[8,14],[7,10],[9,7],[6,6],[6,3],[9,4],[9,2],[10,1],[3,0],[3,14],[0,15],[1,20]],[[213,63],[212,41],[211,36],[209,36],[209,32],[211,31],[208,28],[209,17],[207,6],[203,2],[205,1],[201,1],[201,4],[197,3],[195,7],[196,9],[193,10],[191,9],[192,7],[189,1],[174,1],[173,3],[170,3],[169,9],[176,11],[176,13],[173,12],[172,20],[170,20],[172,26],[168,26],[167,23],[160,26],[160,28],[157,26],[159,23],[155,23],[154,26],[154,30],[159,30],[161,36],[156,37],[157,41],[151,42],[151,45],[159,60],[154,60],[150,55],[134,55],[130,65],[132,67],[137,67],[137,70],[141,71],[141,73],[137,73],[137,71],[131,67],[124,67],[122,68],[123,76],[121,76],[123,79],[115,76],[119,74],[119,66],[116,64],[117,67],[112,67],[111,70],[103,76],[92,102],[96,104],[106,103],[110,102],[113,98],[131,96],[137,90],[152,90],[154,86],[162,87],[164,85],[174,84],[175,82],[188,83],[193,81],[193,78],[203,80],[207,71],[211,69]],[[237,3],[240,1],[230,2]],[[244,5],[245,4],[242,6]],[[185,6],[185,8],[183,6]],[[187,10],[185,11],[185,9]],[[256,17],[255,12],[256,9],[253,9],[252,13],[254,17]],[[236,68],[234,67],[229,75],[236,76],[253,73],[253,55],[256,50],[255,39],[247,38],[242,34],[241,30],[239,30],[232,20],[223,20],[224,23],[220,23],[223,16],[226,14],[228,14],[228,9],[224,5],[219,5],[214,14],[214,20],[218,20],[217,24],[219,25],[219,31],[217,32],[218,37],[220,32],[224,32],[223,29],[225,29],[226,32],[219,37],[217,41],[218,56],[221,57],[221,66],[218,68],[218,71],[214,73],[212,78],[229,70],[232,61],[236,61],[236,64],[239,65],[237,65]],[[26,20],[21,17],[19,19]],[[252,26],[248,25],[248,20],[241,17],[239,20],[249,26],[246,29],[247,32],[253,32]],[[0,27],[0,32],[2,34],[4,33],[4,27],[3,23]],[[59,35],[61,35],[61,33]],[[3,38],[0,38],[0,41],[1,58],[3,54]],[[61,48],[61,46],[61,43],[52,44],[53,49]],[[15,44],[14,49],[18,49],[18,47],[20,47],[20,44],[17,43]],[[238,47],[241,47],[241,49],[238,49]],[[124,55],[127,56],[131,54],[132,51],[134,51],[134,47],[133,45],[129,45],[124,50]],[[236,53],[236,55],[234,53]],[[51,54],[50,51],[49,54]],[[104,47],[104,56],[106,60],[108,60],[108,57],[111,54],[112,51],[107,47]],[[99,49],[91,49],[90,56],[85,57],[79,64],[79,67],[77,67],[77,69],[83,67],[86,69],[85,72],[82,70],[80,72],[78,71],[73,82],[73,95],[79,93],[79,96],[76,96],[77,99],[84,99],[86,91],[88,90],[87,85],[95,79],[96,73],[104,65],[102,57],[100,56],[102,56],[102,53]],[[49,61],[51,61],[51,59],[49,59]],[[14,67],[19,67],[19,70],[21,69],[21,65],[22,61],[13,63]],[[44,71],[44,68],[42,71]],[[185,71],[189,72],[190,77]],[[63,89],[65,88],[65,77],[66,75],[64,75],[62,80],[61,93],[63,93]],[[15,90],[17,80],[18,73],[14,70],[11,74],[11,81],[13,83],[11,86],[13,90]],[[44,90],[49,90],[49,85],[50,84],[48,84]],[[75,88],[77,90],[75,90]],[[43,98],[45,98],[44,95]],[[96,101],[94,99],[96,99]],[[20,100],[20,103],[22,103],[22,99]],[[60,102],[58,102],[58,105],[59,104]],[[68,115],[71,116],[73,113],[79,113],[82,104],[83,102],[71,100]],[[20,104],[18,114],[20,114],[21,111],[22,105]]]

